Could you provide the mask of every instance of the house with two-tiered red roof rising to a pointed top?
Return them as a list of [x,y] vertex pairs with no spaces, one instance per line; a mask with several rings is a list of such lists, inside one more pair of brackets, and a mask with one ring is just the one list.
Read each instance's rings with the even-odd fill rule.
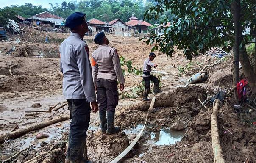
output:
[[134,14],[132,14],[132,17],[130,17],[128,19],[128,22],[126,22],[125,24],[136,28],[136,31],[142,34],[148,33],[148,27],[152,26],[150,23],[134,17]]

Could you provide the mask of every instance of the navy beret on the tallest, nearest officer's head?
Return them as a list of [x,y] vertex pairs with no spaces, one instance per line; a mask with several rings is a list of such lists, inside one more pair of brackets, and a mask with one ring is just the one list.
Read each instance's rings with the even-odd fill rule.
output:
[[85,21],[85,14],[81,12],[75,12],[67,17],[65,27],[74,29],[78,25],[81,25]]

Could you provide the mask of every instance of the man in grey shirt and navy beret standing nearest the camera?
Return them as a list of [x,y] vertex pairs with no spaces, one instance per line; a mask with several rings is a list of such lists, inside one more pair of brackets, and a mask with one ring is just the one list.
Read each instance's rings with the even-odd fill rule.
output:
[[[70,110],[69,146],[65,163],[91,163],[87,160],[86,131],[90,122],[90,111],[97,112],[95,88],[89,49],[84,34],[88,31],[86,15],[80,12],[66,19],[71,34],[60,46],[63,72],[63,94]],[[91,106],[90,106],[91,104]]]

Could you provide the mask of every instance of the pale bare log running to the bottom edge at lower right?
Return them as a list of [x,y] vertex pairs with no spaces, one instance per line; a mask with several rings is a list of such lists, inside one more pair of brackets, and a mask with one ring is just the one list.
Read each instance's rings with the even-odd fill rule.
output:
[[218,130],[218,110],[221,108],[222,102],[215,99],[213,102],[213,112],[211,114],[211,145],[214,156],[214,163],[225,163],[223,152],[220,146],[220,137]]

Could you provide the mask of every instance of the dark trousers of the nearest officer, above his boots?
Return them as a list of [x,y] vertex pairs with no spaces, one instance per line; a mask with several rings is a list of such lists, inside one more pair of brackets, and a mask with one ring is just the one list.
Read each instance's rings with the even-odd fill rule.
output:
[[86,99],[67,99],[70,110],[70,135],[72,138],[86,136],[90,122],[90,104]]

